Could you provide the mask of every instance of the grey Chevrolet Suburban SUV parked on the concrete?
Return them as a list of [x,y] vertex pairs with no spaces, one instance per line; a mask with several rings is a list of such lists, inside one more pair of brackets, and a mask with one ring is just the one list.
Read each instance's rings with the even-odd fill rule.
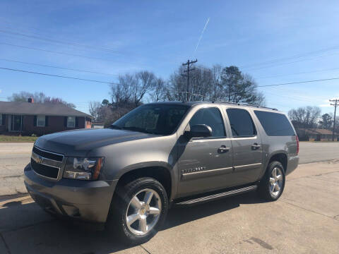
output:
[[143,243],[170,205],[249,191],[278,200],[299,141],[277,109],[227,102],[145,104],[106,129],[37,139],[25,186],[47,212]]

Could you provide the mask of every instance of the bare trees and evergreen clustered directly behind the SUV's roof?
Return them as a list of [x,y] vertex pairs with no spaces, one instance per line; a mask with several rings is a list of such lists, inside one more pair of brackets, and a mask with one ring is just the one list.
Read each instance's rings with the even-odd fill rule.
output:
[[227,101],[264,106],[265,97],[256,88],[255,80],[237,66],[196,66],[190,72],[189,89],[184,66],[167,80],[150,71],[124,73],[109,87],[109,99],[90,102],[89,111],[105,126],[144,102]]

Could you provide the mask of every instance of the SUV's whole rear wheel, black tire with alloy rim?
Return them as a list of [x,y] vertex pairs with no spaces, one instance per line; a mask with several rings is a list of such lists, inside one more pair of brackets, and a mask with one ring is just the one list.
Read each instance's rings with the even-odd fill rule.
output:
[[268,201],[280,198],[285,188],[285,171],[280,162],[270,162],[259,184],[259,193]]

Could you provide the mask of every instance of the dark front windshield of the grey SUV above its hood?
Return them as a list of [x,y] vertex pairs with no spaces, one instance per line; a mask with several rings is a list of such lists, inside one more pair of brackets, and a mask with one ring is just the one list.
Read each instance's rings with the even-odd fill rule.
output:
[[184,105],[143,105],[115,121],[111,128],[169,135],[177,129],[187,109]]

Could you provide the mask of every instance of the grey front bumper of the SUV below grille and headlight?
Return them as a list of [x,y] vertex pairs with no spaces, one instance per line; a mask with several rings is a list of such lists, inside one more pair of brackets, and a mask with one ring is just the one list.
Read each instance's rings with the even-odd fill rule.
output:
[[38,176],[30,164],[24,173],[28,193],[44,210],[87,222],[106,222],[117,180],[49,181]]

